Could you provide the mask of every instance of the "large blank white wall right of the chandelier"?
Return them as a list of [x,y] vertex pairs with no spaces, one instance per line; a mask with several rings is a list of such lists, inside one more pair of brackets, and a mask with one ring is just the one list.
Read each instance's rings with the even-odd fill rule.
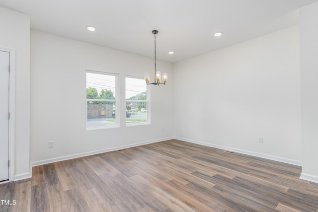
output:
[[300,164],[298,26],[176,63],[173,71],[176,138]]

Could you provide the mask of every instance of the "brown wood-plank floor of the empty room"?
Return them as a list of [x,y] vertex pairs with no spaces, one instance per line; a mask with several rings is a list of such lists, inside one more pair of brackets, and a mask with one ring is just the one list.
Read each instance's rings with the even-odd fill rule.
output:
[[12,212],[318,212],[301,167],[170,140],[33,167]]

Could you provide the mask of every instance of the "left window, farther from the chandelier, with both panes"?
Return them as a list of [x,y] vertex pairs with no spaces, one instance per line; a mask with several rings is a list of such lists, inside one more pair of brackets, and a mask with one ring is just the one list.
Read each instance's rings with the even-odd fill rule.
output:
[[117,127],[117,75],[86,71],[86,129]]

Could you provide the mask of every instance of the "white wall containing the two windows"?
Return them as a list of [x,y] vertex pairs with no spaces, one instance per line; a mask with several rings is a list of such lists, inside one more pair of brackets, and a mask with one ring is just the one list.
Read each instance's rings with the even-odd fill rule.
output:
[[[172,65],[158,62],[169,74]],[[151,87],[151,125],[86,131],[85,70],[119,74],[121,110],[125,76],[154,71],[154,59],[31,31],[31,162],[111,150],[173,136],[172,83]],[[146,83],[146,82],[145,82]],[[121,121],[125,122],[125,118]],[[161,132],[164,127],[164,132]],[[54,148],[48,148],[54,141]],[[56,159],[54,159],[56,158]]]

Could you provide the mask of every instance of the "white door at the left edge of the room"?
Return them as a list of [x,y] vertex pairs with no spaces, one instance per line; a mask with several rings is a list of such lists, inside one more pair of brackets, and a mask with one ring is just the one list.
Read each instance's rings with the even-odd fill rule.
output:
[[0,51],[0,182],[9,179],[9,52]]

